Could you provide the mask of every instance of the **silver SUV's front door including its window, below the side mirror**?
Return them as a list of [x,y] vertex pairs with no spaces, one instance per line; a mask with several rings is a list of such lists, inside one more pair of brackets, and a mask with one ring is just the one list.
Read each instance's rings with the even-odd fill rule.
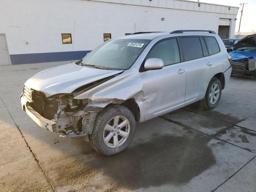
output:
[[180,63],[176,38],[158,42],[148,58],[160,58],[164,67],[140,73],[143,81],[145,120],[185,105],[186,71]]

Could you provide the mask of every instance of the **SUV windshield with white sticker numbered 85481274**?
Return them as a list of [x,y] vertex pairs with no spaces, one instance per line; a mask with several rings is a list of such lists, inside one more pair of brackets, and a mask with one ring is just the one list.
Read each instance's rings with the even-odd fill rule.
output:
[[108,70],[130,68],[150,40],[114,39],[108,40],[86,55],[82,65]]

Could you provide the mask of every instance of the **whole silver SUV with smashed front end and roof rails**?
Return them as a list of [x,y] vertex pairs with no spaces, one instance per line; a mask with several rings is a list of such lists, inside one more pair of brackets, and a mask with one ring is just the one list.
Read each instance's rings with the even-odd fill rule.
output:
[[28,79],[22,109],[42,128],[89,140],[101,154],[130,144],[136,122],[200,101],[212,109],[231,57],[213,31],[178,30],[108,40],[82,60]]

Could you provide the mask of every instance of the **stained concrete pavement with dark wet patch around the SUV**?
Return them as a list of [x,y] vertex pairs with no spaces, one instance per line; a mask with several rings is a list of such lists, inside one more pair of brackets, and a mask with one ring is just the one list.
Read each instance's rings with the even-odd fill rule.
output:
[[231,77],[214,110],[192,104],[138,124],[106,157],[20,108],[24,82],[63,63],[0,66],[0,191],[255,192],[256,80]]

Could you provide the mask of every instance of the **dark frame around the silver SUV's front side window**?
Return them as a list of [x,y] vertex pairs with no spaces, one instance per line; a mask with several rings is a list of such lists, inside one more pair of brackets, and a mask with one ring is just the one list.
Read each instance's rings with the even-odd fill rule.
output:
[[[155,47],[158,43],[160,43],[160,42],[162,42],[162,41],[165,41],[165,40],[170,40],[170,39],[176,39],[176,40],[177,40],[178,49],[179,49],[179,55],[180,55],[180,62],[172,63],[172,64],[169,64],[169,65],[165,65],[164,67],[167,67],[167,66],[170,66],[170,65],[175,65],[175,64],[178,64],[178,63],[183,62],[182,50],[181,50],[181,47],[180,47],[180,40],[179,40],[178,36],[176,36],[176,37],[168,37],[168,38],[164,38],[164,39],[159,40],[158,42],[156,42],[156,43],[152,46],[152,48],[150,48],[149,52],[147,53],[146,57],[144,58],[144,60],[143,60],[143,62],[142,62],[142,64],[141,64],[141,66],[140,66],[139,72],[145,72],[145,71],[149,71],[149,70],[158,70],[158,69],[145,69],[145,68],[144,68],[144,64],[145,64],[145,62],[146,62],[146,60],[147,60],[149,54],[151,53],[151,51],[154,49],[154,47]],[[163,68],[164,68],[164,67],[163,67]]]

